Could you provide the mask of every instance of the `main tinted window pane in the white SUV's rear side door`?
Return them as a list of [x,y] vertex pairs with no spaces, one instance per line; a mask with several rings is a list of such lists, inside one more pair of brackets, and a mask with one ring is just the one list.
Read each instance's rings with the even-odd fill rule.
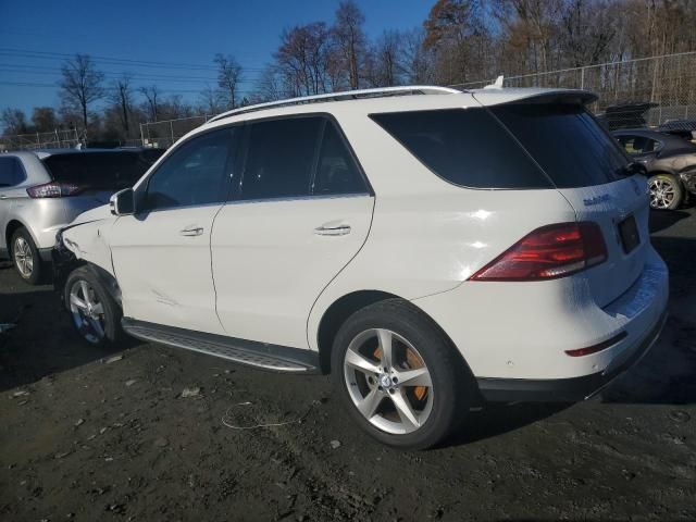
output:
[[309,196],[323,124],[321,116],[249,124],[239,199]]

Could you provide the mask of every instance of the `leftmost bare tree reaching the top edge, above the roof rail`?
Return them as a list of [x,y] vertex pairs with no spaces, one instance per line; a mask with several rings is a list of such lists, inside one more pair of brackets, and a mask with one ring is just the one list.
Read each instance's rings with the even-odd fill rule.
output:
[[362,29],[365,17],[352,0],[345,0],[336,10],[336,22],[332,35],[336,48],[348,71],[348,83],[351,89],[360,87],[360,69],[365,54],[366,38]]

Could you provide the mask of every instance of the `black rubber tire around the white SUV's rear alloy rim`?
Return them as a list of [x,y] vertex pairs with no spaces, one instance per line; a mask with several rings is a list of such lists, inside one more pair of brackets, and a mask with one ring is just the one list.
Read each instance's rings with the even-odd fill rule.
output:
[[[407,340],[418,351],[426,370],[430,372],[432,388],[428,388],[427,393],[433,393],[430,413],[420,427],[410,433],[395,434],[381,430],[363,417],[351,398],[350,389],[353,389],[355,394],[357,385],[355,382],[349,384],[352,380],[346,374],[346,372],[350,373],[351,370],[345,370],[344,366],[346,352],[353,340],[360,343],[357,339],[360,339],[365,332],[373,328],[390,331]],[[397,343],[400,341],[397,339]],[[355,346],[358,345],[353,345],[353,348]],[[371,349],[368,348],[368,352]],[[377,364],[381,365],[382,363],[378,362]],[[425,449],[443,440],[463,422],[470,406],[477,397],[475,382],[461,355],[451,346],[449,339],[430,318],[402,299],[380,301],[359,310],[348,318],[334,340],[332,374],[336,390],[353,420],[381,443],[401,449]],[[356,373],[356,375],[358,374]],[[369,373],[365,373],[365,375],[369,375]],[[366,380],[370,380],[370,377],[366,377]],[[372,382],[372,387],[375,387],[378,382],[380,378]],[[403,388],[405,393],[406,389]],[[383,390],[383,388],[380,387],[380,390]],[[393,393],[393,390],[389,389],[389,393]],[[389,394],[384,391],[382,394],[384,398],[380,399],[382,402],[380,402],[377,411],[380,409],[384,410],[386,401],[386,408],[388,409],[389,406],[393,406],[396,414],[401,417],[396,411],[396,403],[389,405],[387,400]],[[394,415],[394,413],[387,411],[385,415],[388,414]],[[374,417],[372,419],[374,420]],[[402,418],[401,421],[403,421]]]

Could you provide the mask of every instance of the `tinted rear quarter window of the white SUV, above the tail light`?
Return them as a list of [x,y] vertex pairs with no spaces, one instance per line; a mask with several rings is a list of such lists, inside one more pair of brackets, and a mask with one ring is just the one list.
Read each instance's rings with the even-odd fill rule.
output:
[[551,184],[485,109],[371,114],[425,166],[472,188],[549,188]]

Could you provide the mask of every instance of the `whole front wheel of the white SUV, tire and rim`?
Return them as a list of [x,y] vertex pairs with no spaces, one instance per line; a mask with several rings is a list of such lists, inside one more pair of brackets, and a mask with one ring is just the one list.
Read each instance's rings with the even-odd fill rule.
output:
[[79,266],[67,276],[63,302],[75,331],[85,343],[108,347],[123,340],[121,307],[88,266]]

